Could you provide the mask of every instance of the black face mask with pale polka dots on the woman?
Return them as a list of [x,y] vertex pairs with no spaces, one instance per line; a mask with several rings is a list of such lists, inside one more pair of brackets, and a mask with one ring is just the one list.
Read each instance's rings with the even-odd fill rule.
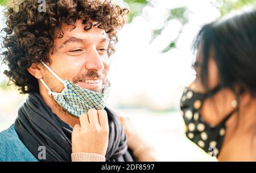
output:
[[[201,147],[209,155],[217,157],[220,152],[222,142],[225,136],[225,123],[231,115],[237,110],[230,113],[218,125],[211,126],[203,120],[200,109],[204,100],[208,96],[216,94],[220,90],[217,86],[208,94],[201,94],[185,88],[180,100],[180,109],[183,112],[185,122],[185,133],[189,140]],[[233,107],[237,107],[234,100]]]

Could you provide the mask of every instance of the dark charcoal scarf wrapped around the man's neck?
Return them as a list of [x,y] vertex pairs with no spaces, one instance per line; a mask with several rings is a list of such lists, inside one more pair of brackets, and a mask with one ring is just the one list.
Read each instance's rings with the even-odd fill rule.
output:
[[[106,161],[134,161],[118,117],[108,108],[105,110],[109,119]],[[19,108],[14,127],[20,140],[36,158],[39,146],[46,147],[46,159],[40,161],[71,161],[72,127],[60,120],[38,93],[28,95],[26,103]]]

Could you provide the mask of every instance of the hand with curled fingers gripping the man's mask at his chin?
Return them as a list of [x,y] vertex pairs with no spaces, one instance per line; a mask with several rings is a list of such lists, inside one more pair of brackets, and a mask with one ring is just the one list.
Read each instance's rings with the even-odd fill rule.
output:
[[109,143],[108,115],[105,110],[89,109],[80,117],[72,132],[72,153],[106,155]]

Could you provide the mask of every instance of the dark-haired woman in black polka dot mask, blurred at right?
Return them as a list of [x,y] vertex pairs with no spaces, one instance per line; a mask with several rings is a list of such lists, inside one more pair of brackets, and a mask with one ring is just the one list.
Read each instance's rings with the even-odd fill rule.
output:
[[193,50],[196,79],[180,100],[187,137],[219,161],[256,161],[256,10],[203,26]]

